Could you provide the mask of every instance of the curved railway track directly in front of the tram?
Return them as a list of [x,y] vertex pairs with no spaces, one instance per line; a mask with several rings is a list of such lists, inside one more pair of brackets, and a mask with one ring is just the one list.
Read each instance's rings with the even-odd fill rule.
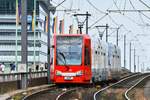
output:
[[[133,76],[139,77],[138,75]],[[126,76],[125,79],[128,77],[129,76]],[[80,85],[76,87],[53,86],[49,89],[32,93],[24,97],[23,100],[93,100],[94,93],[100,88],[101,86],[98,86],[97,88],[97,85]]]

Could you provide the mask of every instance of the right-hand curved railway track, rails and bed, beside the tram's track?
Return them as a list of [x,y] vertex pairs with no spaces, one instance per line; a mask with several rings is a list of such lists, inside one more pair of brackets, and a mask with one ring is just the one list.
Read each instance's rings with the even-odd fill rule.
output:
[[124,93],[149,74],[136,74],[94,93],[94,100],[125,100]]

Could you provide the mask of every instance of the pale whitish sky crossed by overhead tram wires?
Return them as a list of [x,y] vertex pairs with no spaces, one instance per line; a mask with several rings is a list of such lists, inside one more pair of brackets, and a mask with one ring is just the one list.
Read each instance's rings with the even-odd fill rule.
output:
[[[63,0],[52,0],[54,5],[59,4]],[[91,6],[91,2],[97,9]],[[148,6],[150,6],[150,0],[142,0]],[[108,13],[107,10],[150,10],[150,7],[146,7],[140,2],[140,0],[66,0],[57,10],[65,9],[80,9],[76,13],[86,13],[88,11],[92,16],[89,18],[89,26],[91,26],[95,21]],[[104,13],[101,13],[104,12]],[[69,25],[74,25],[74,30],[77,29],[76,18],[73,17],[75,12],[63,12],[57,11],[55,16],[58,19],[65,18],[65,33],[68,33]],[[132,49],[136,48],[136,63],[137,56],[140,56],[140,69],[145,65],[145,68],[150,67],[150,12],[126,12],[126,13],[108,13],[109,15],[100,20],[96,25],[109,25],[109,27],[117,28],[123,25],[119,30],[119,46],[122,52],[122,66],[123,63],[123,35],[127,36],[127,46],[126,46],[126,67],[129,68],[129,43],[132,41]],[[83,20],[83,18],[80,18]],[[94,27],[93,26],[93,27]],[[90,36],[93,38],[98,38],[98,31],[96,28],[89,29]],[[103,29],[100,29],[103,31]],[[109,29],[109,42],[116,44],[116,31],[114,29]],[[130,32],[129,32],[130,31]],[[85,32],[85,26],[83,28]],[[75,33],[75,31],[74,31]],[[105,40],[105,34],[103,36]],[[132,51],[132,67],[133,67],[133,51]],[[132,68],[133,71],[133,68]]]

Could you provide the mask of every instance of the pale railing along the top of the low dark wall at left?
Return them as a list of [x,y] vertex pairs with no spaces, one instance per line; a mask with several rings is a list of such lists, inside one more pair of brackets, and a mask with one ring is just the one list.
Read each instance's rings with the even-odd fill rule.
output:
[[47,77],[47,71],[0,74],[0,83],[21,80],[22,75],[27,75],[28,79]]

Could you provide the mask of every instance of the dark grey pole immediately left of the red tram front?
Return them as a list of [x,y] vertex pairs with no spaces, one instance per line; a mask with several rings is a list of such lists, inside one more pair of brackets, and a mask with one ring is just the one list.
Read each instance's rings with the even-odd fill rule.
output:
[[48,83],[50,83],[50,12],[48,14],[48,33],[47,33],[47,62],[48,62]]

